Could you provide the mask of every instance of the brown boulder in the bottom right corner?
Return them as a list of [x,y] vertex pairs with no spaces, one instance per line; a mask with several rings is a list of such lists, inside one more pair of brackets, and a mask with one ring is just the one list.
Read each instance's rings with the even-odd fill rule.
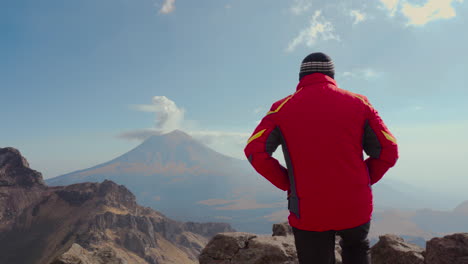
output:
[[426,251],[426,264],[468,264],[468,233],[433,238]]

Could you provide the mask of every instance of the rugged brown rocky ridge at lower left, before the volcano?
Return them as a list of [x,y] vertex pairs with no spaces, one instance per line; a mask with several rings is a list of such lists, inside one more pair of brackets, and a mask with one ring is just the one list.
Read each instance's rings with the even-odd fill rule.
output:
[[112,181],[46,187],[17,150],[0,153],[0,263],[193,264],[214,234],[234,231],[171,220]]

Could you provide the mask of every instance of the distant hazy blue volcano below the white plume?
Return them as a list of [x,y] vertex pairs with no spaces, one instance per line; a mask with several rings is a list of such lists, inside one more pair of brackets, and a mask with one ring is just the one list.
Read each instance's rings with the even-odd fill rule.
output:
[[247,161],[222,155],[179,130],[152,136],[109,162],[46,183],[59,186],[105,179],[127,186],[141,204],[172,218],[227,221],[249,231],[265,228],[261,217],[286,206],[284,194],[257,175]]

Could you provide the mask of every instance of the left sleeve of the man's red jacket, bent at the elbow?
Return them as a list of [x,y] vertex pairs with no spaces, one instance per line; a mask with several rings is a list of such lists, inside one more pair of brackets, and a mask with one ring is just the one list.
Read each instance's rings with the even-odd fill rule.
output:
[[269,180],[277,188],[289,190],[288,171],[277,159],[272,157],[273,152],[281,144],[279,128],[273,120],[274,114],[267,114],[244,149],[247,159],[254,169]]

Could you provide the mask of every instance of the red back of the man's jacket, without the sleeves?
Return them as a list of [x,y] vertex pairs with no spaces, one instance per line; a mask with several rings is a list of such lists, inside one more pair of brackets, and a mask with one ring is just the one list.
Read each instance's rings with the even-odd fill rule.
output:
[[272,116],[285,140],[299,198],[300,217],[292,214],[292,225],[341,230],[370,220],[372,193],[362,158],[367,108],[332,78],[313,74]]

